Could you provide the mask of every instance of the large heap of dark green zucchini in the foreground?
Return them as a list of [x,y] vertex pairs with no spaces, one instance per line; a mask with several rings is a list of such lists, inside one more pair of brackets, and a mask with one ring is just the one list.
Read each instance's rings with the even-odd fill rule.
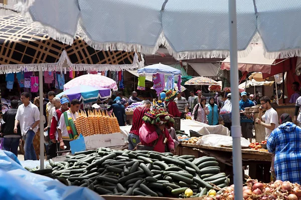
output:
[[[191,188],[197,197],[229,185],[214,157],[173,155],[145,150],[111,150],[100,147],[49,160],[55,176],[85,186],[101,195],[178,196]],[[218,190],[218,189],[217,189]],[[221,190],[220,190],[221,192]]]

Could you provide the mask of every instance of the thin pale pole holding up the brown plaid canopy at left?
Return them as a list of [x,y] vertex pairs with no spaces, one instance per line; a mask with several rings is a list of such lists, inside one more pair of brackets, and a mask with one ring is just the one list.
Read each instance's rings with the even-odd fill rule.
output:
[[42,66],[40,66],[39,69],[39,93],[40,93],[40,168],[44,169],[44,113],[43,113],[43,102],[44,102],[44,96],[43,96],[43,71]]

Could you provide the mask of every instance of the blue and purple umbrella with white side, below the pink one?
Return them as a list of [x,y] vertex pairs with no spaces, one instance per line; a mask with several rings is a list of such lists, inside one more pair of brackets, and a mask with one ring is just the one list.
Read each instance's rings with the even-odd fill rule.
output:
[[57,94],[56,96],[61,97],[66,94],[70,100],[76,98],[83,100],[85,103],[96,101],[98,98],[107,99],[111,96],[111,89],[103,87],[92,87],[89,85],[78,85],[66,89],[65,91]]

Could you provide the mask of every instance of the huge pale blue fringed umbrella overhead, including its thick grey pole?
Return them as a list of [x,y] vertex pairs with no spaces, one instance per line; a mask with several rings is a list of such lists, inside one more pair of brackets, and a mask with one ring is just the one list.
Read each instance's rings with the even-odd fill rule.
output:
[[[20,1],[19,7],[24,15],[30,13],[28,21],[67,43],[80,31],[90,45],[100,49],[155,53],[164,43],[177,59],[227,57],[230,53],[232,88],[238,87],[238,51],[246,55],[252,48],[250,41],[259,34],[267,58],[301,54],[298,0],[239,0],[237,5],[236,0],[36,0]],[[235,198],[242,199],[238,90],[232,96]]]

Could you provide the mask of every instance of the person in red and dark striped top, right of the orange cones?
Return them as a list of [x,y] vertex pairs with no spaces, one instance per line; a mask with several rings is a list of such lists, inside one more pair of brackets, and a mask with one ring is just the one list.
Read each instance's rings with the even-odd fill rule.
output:
[[144,100],[143,106],[136,107],[133,112],[133,125],[128,133],[128,149],[132,150],[140,142],[139,129],[142,126],[144,113],[150,111],[150,101]]

